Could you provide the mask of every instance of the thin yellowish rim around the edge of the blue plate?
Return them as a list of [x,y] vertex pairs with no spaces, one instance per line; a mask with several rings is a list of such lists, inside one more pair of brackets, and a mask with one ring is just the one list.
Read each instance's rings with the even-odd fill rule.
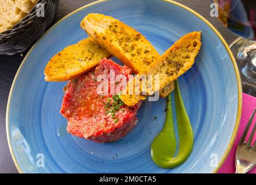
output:
[[[88,5],[82,6],[81,8],[78,8],[76,10],[74,10],[73,12],[67,14],[67,16],[61,18],[60,20],[57,21],[57,23],[55,23],[54,25],[52,25],[52,27],[50,27],[45,34],[43,34],[43,36],[31,47],[31,49],[28,51],[27,55],[24,57],[23,61],[21,62],[19,69],[16,72],[16,75],[13,79],[13,83],[12,83],[12,87],[10,88],[10,92],[9,92],[9,97],[8,97],[8,103],[7,103],[7,107],[6,107],[6,135],[7,135],[7,140],[8,140],[8,145],[9,145],[9,149],[10,149],[10,154],[13,158],[14,164],[17,168],[17,170],[19,171],[19,173],[23,173],[23,171],[21,170],[18,162],[17,162],[17,158],[14,156],[14,151],[10,142],[10,136],[9,136],[9,108],[10,108],[10,100],[12,99],[12,92],[13,92],[13,88],[14,88],[14,84],[17,80],[17,76],[19,75],[22,66],[24,65],[25,61],[27,60],[27,57],[30,55],[30,53],[32,52],[32,50],[34,50],[35,46],[38,45],[38,43],[45,37],[45,35],[50,32],[53,28],[55,28],[58,24],[60,24],[63,20],[65,20],[65,18],[70,17],[72,14],[79,12],[82,9],[85,9],[89,6],[92,5],[96,5],[97,3],[101,3],[101,2],[105,2],[108,0],[100,0],[100,1],[96,1],[96,2],[92,2],[89,3]],[[241,78],[240,78],[240,73],[239,73],[239,69],[237,67],[236,64],[236,60],[233,57],[232,51],[228,46],[228,43],[226,43],[225,39],[222,37],[222,35],[220,34],[220,32],[218,32],[218,30],[208,21],[206,20],[206,18],[204,18],[203,16],[201,16],[198,12],[195,12],[195,10],[192,10],[191,8],[188,8],[185,5],[182,5],[181,3],[175,2],[175,1],[171,1],[171,0],[162,0],[165,2],[169,2],[172,3],[174,5],[180,6],[181,8],[184,8],[186,10],[188,10],[189,12],[195,14],[195,16],[199,17],[200,19],[202,19],[204,21],[204,23],[206,23],[207,25],[209,25],[209,27],[211,29],[213,29],[213,31],[215,32],[215,34],[218,35],[218,37],[220,38],[220,40],[222,41],[222,43],[224,44],[224,46],[226,47],[226,50],[229,53],[229,56],[231,57],[233,66],[235,68],[235,72],[236,72],[236,78],[237,78],[237,87],[238,87],[238,108],[237,108],[237,116],[236,116],[236,124],[235,124],[235,128],[233,130],[232,133],[232,137],[231,140],[229,141],[228,147],[225,150],[224,156],[222,156],[221,160],[218,163],[218,166],[214,169],[213,173],[218,172],[218,170],[221,168],[222,164],[224,163],[224,161],[226,160],[226,157],[228,157],[229,151],[231,150],[233,143],[235,142],[235,138],[236,138],[236,134],[239,128],[239,123],[240,123],[240,117],[241,117],[241,113],[242,113],[242,83],[241,83]]]

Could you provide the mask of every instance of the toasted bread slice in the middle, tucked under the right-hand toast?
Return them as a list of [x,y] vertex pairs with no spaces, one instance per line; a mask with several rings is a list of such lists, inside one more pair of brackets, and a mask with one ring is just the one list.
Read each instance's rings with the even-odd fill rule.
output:
[[[81,27],[136,74],[160,57],[140,32],[113,17],[90,13],[81,21]],[[172,84],[160,91],[162,97],[173,90]]]

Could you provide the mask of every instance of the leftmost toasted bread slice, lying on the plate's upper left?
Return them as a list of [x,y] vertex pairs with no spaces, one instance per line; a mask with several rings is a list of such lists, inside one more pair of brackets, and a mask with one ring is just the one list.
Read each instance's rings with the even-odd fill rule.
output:
[[96,40],[87,38],[70,45],[57,53],[45,67],[46,81],[65,81],[73,79],[92,69],[111,54],[100,47]]

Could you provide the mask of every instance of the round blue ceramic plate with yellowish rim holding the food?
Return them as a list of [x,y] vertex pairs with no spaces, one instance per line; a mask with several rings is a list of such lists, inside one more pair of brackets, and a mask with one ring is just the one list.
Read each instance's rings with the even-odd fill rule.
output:
[[[104,13],[137,29],[160,54],[175,40],[202,31],[195,65],[179,78],[195,145],[188,160],[163,169],[150,146],[163,127],[166,99],[145,101],[138,124],[125,138],[95,143],[65,131],[59,113],[64,83],[47,83],[45,65],[64,47],[87,37],[79,23],[88,13]],[[114,58],[115,61],[118,61]],[[13,160],[24,173],[209,173],[220,167],[235,138],[241,112],[239,72],[226,42],[198,13],[160,0],[98,1],[55,24],[25,57],[10,91],[6,127]],[[157,116],[157,119],[154,117]]]

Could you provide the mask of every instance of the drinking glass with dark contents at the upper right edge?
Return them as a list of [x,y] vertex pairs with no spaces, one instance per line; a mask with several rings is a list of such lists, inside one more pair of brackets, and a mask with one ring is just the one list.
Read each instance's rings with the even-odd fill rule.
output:
[[256,97],[256,0],[214,0],[218,18],[240,37],[231,50],[239,67],[243,92]]

